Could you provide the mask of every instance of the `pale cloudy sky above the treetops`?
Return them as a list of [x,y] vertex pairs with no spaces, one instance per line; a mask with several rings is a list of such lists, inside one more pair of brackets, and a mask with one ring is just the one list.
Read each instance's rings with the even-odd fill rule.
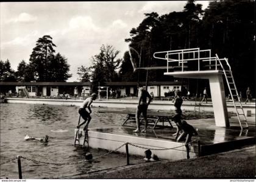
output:
[[[78,82],[77,68],[91,66],[102,44],[128,51],[125,38],[144,13],[180,12],[187,1],[0,2],[0,59],[16,71],[29,57],[38,38],[50,35],[56,53],[67,58],[68,82]],[[208,1],[196,1],[207,8]]]

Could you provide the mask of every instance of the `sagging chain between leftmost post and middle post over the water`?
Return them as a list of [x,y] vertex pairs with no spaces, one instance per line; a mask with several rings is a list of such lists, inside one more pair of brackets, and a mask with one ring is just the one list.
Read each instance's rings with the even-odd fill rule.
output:
[[126,145],[126,144],[123,144],[123,145],[121,145],[120,147],[116,148],[115,150],[112,150],[112,151],[110,151],[110,152],[108,152],[108,153],[105,153],[104,155],[98,156],[98,157],[96,157],[96,158],[94,158],[94,159],[82,160],[82,161],[78,161],[78,162],[76,162],[76,163],[52,163],[52,162],[43,162],[43,161],[38,161],[38,160],[35,160],[35,159],[30,159],[30,158],[27,158],[27,157],[25,157],[25,156],[21,156],[21,158],[26,159],[27,161],[32,161],[32,162],[37,163],[37,164],[73,165],[73,164],[84,163],[84,162],[88,162],[88,161],[93,161],[93,160],[98,159],[98,158],[102,158],[103,156],[106,156],[106,155],[108,155],[108,154],[110,154],[110,153],[112,153],[112,152],[117,151],[118,149],[120,149],[120,148],[123,147],[124,145]]

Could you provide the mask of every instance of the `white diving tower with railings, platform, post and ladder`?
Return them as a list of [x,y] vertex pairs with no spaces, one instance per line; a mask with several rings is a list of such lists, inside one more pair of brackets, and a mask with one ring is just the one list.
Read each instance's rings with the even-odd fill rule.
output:
[[248,127],[227,58],[219,58],[217,54],[215,54],[215,57],[212,57],[211,49],[200,50],[199,48],[155,52],[154,58],[166,61],[165,75],[209,80],[215,125],[217,127],[230,126],[224,91],[224,75],[240,127],[242,129]]

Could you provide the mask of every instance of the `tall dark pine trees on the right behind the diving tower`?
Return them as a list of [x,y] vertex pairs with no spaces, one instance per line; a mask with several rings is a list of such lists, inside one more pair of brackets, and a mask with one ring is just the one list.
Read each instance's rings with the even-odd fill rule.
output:
[[[197,1],[200,3],[200,1]],[[245,91],[254,80],[254,45],[255,45],[255,1],[227,0],[211,1],[208,8],[202,10],[201,4],[187,1],[182,12],[171,12],[159,16],[157,13],[145,13],[146,18],[137,28],[130,30],[126,41],[140,52],[132,57],[137,58],[141,67],[165,66],[165,61],[155,60],[154,52],[200,47],[212,49],[213,54],[229,58],[235,77],[236,86]],[[212,55],[215,56],[215,55]],[[130,56],[125,54],[123,65],[129,65]],[[133,72],[132,67],[121,66],[122,80],[146,80],[146,72]],[[122,68],[129,68],[124,70]],[[165,70],[151,71],[149,79],[154,81],[173,80],[163,75]],[[126,77],[126,75],[130,75]],[[195,89],[196,80],[187,80]],[[202,89],[207,82],[199,80]],[[188,85],[189,86],[189,85]],[[227,89],[226,89],[227,90]],[[194,90],[195,92],[195,90]]]

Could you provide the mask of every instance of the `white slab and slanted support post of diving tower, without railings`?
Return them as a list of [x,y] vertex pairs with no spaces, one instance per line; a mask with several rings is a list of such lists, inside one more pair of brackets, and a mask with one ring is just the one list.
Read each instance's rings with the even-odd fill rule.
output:
[[215,116],[216,127],[229,127],[229,117],[227,113],[227,103],[225,97],[222,71],[184,71],[165,72],[165,75],[172,75],[179,78],[208,79],[210,83],[210,93]]

